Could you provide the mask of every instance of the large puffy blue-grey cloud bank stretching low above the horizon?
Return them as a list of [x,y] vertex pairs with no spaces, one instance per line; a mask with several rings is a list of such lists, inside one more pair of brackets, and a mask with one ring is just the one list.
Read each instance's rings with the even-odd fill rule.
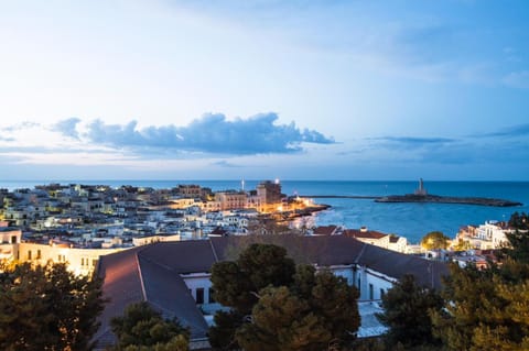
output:
[[96,120],[84,134],[90,142],[136,152],[198,152],[252,155],[295,153],[302,143],[332,144],[335,141],[314,130],[301,131],[294,122],[276,124],[276,113],[260,113],[233,121],[222,113],[207,113],[186,127],[173,124],[139,129],[136,121],[106,124]]

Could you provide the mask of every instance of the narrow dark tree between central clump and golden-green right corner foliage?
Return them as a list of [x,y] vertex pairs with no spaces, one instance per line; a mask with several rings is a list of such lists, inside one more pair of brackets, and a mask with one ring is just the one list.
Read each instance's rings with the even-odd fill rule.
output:
[[433,289],[420,286],[413,275],[404,275],[382,296],[384,312],[377,315],[389,328],[385,334],[388,344],[400,342],[407,349],[434,345],[430,311],[439,311],[443,299]]

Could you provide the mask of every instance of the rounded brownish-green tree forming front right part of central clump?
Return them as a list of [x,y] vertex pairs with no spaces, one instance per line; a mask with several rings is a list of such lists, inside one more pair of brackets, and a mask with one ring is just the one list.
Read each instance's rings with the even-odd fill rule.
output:
[[290,287],[267,287],[251,322],[236,333],[248,351],[316,351],[349,344],[359,326],[358,290],[328,271],[300,265]]

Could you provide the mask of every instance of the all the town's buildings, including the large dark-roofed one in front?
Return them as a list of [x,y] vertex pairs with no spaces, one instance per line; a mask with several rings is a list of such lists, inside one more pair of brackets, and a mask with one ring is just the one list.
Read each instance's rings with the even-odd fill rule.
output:
[[[125,310],[131,295],[156,300],[160,287],[171,289],[176,281],[186,286],[175,292],[180,305],[168,301],[162,309],[191,328],[192,349],[207,348],[213,315],[223,308],[214,299],[212,265],[235,259],[230,249],[256,242],[284,246],[301,262],[331,270],[356,286],[363,320],[358,336],[379,336],[386,331],[375,317],[381,311],[379,303],[400,277],[413,274],[421,284],[439,288],[447,274],[445,262],[486,266],[514,232],[505,222],[468,224],[454,240],[428,248],[365,227],[314,227],[306,217],[327,206],[287,197],[278,180],[249,191],[241,184],[240,189],[215,193],[199,185],[153,189],[51,184],[3,189],[0,200],[0,260],[67,263],[76,275],[96,272],[105,278],[110,301],[95,337],[100,348],[111,344],[109,320],[116,310]],[[147,245],[151,249],[141,250]],[[160,278],[166,270],[179,274]]]

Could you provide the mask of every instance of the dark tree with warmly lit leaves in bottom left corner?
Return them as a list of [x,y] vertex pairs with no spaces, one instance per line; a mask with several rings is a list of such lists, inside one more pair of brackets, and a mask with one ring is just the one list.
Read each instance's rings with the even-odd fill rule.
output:
[[91,350],[101,282],[62,263],[0,267],[0,349]]

